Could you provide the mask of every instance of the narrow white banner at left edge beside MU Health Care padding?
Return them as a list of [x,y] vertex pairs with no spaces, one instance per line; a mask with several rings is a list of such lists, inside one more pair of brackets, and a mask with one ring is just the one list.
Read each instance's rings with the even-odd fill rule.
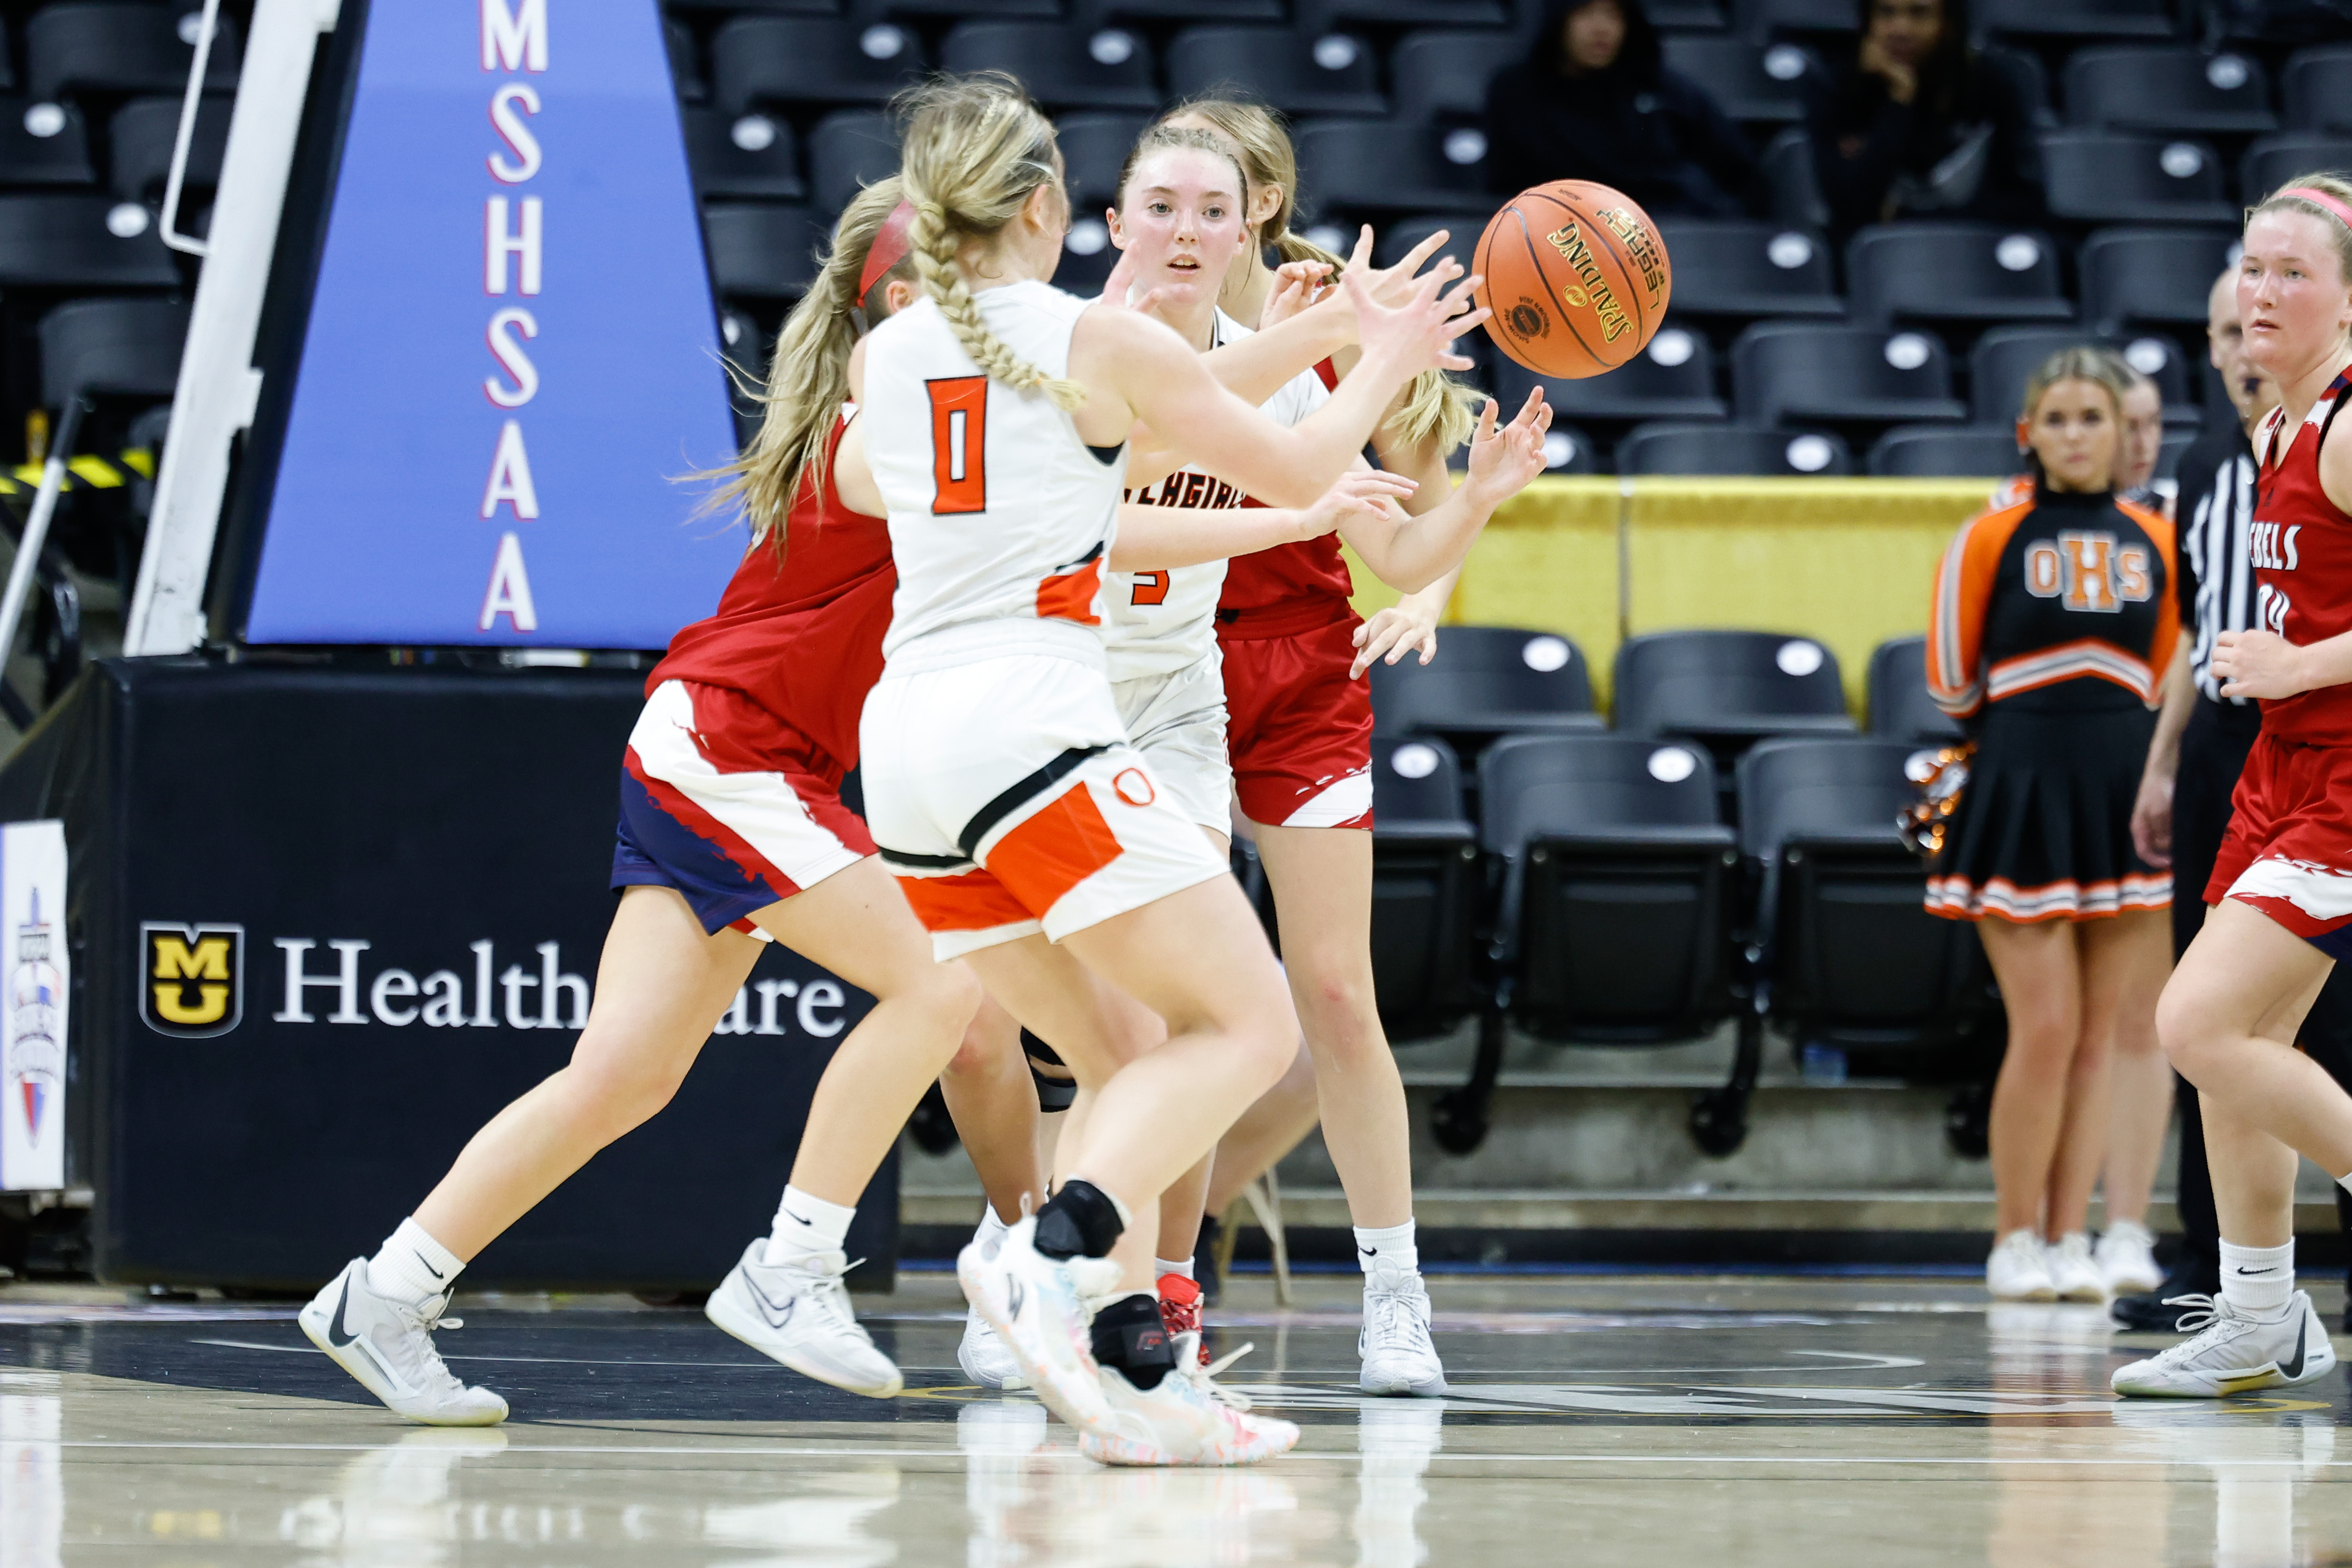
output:
[[0,825],[0,1187],[66,1185],[66,825]]

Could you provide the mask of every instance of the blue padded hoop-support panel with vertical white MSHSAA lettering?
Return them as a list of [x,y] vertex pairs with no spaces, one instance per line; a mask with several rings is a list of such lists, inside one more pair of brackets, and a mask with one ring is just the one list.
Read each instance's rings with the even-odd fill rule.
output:
[[245,635],[659,649],[741,534],[654,0],[372,5]]

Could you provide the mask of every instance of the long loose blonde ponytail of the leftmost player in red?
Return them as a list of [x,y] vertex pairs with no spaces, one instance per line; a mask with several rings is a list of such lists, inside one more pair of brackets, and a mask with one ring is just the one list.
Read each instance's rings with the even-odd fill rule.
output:
[[[750,517],[753,543],[771,538],[783,552],[783,520],[800,498],[802,484],[826,482],[826,454],[833,447],[833,423],[849,400],[849,350],[858,341],[858,277],[866,273],[866,254],[875,235],[898,209],[903,190],[898,176],[875,181],[858,190],[833,226],[833,247],[816,268],[816,282],[800,296],[793,313],[783,317],[776,334],[776,355],[767,367],[767,388],[750,390],[760,404],[760,430],[734,463],[713,470],[727,482],[706,501],[717,508],[741,501]],[[913,259],[901,259],[875,280],[880,289],[891,277],[910,277]],[[731,364],[729,374],[743,386],[748,378]]]

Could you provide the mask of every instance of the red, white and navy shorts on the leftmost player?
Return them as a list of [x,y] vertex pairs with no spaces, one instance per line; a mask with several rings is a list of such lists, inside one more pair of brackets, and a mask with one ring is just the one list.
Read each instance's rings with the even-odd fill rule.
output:
[[663,682],[621,762],[612,886],[677,889],[703,931],[875,853],[840,771],[807,736],[727,686]]

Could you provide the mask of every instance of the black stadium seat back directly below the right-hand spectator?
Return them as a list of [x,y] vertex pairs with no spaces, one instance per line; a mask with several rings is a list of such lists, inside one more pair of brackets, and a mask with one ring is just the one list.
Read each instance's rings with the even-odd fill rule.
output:
[[2049,235],[1994,223],[1877,223],[1846,244],[1853,317],[1896,322],[2070,322]]

